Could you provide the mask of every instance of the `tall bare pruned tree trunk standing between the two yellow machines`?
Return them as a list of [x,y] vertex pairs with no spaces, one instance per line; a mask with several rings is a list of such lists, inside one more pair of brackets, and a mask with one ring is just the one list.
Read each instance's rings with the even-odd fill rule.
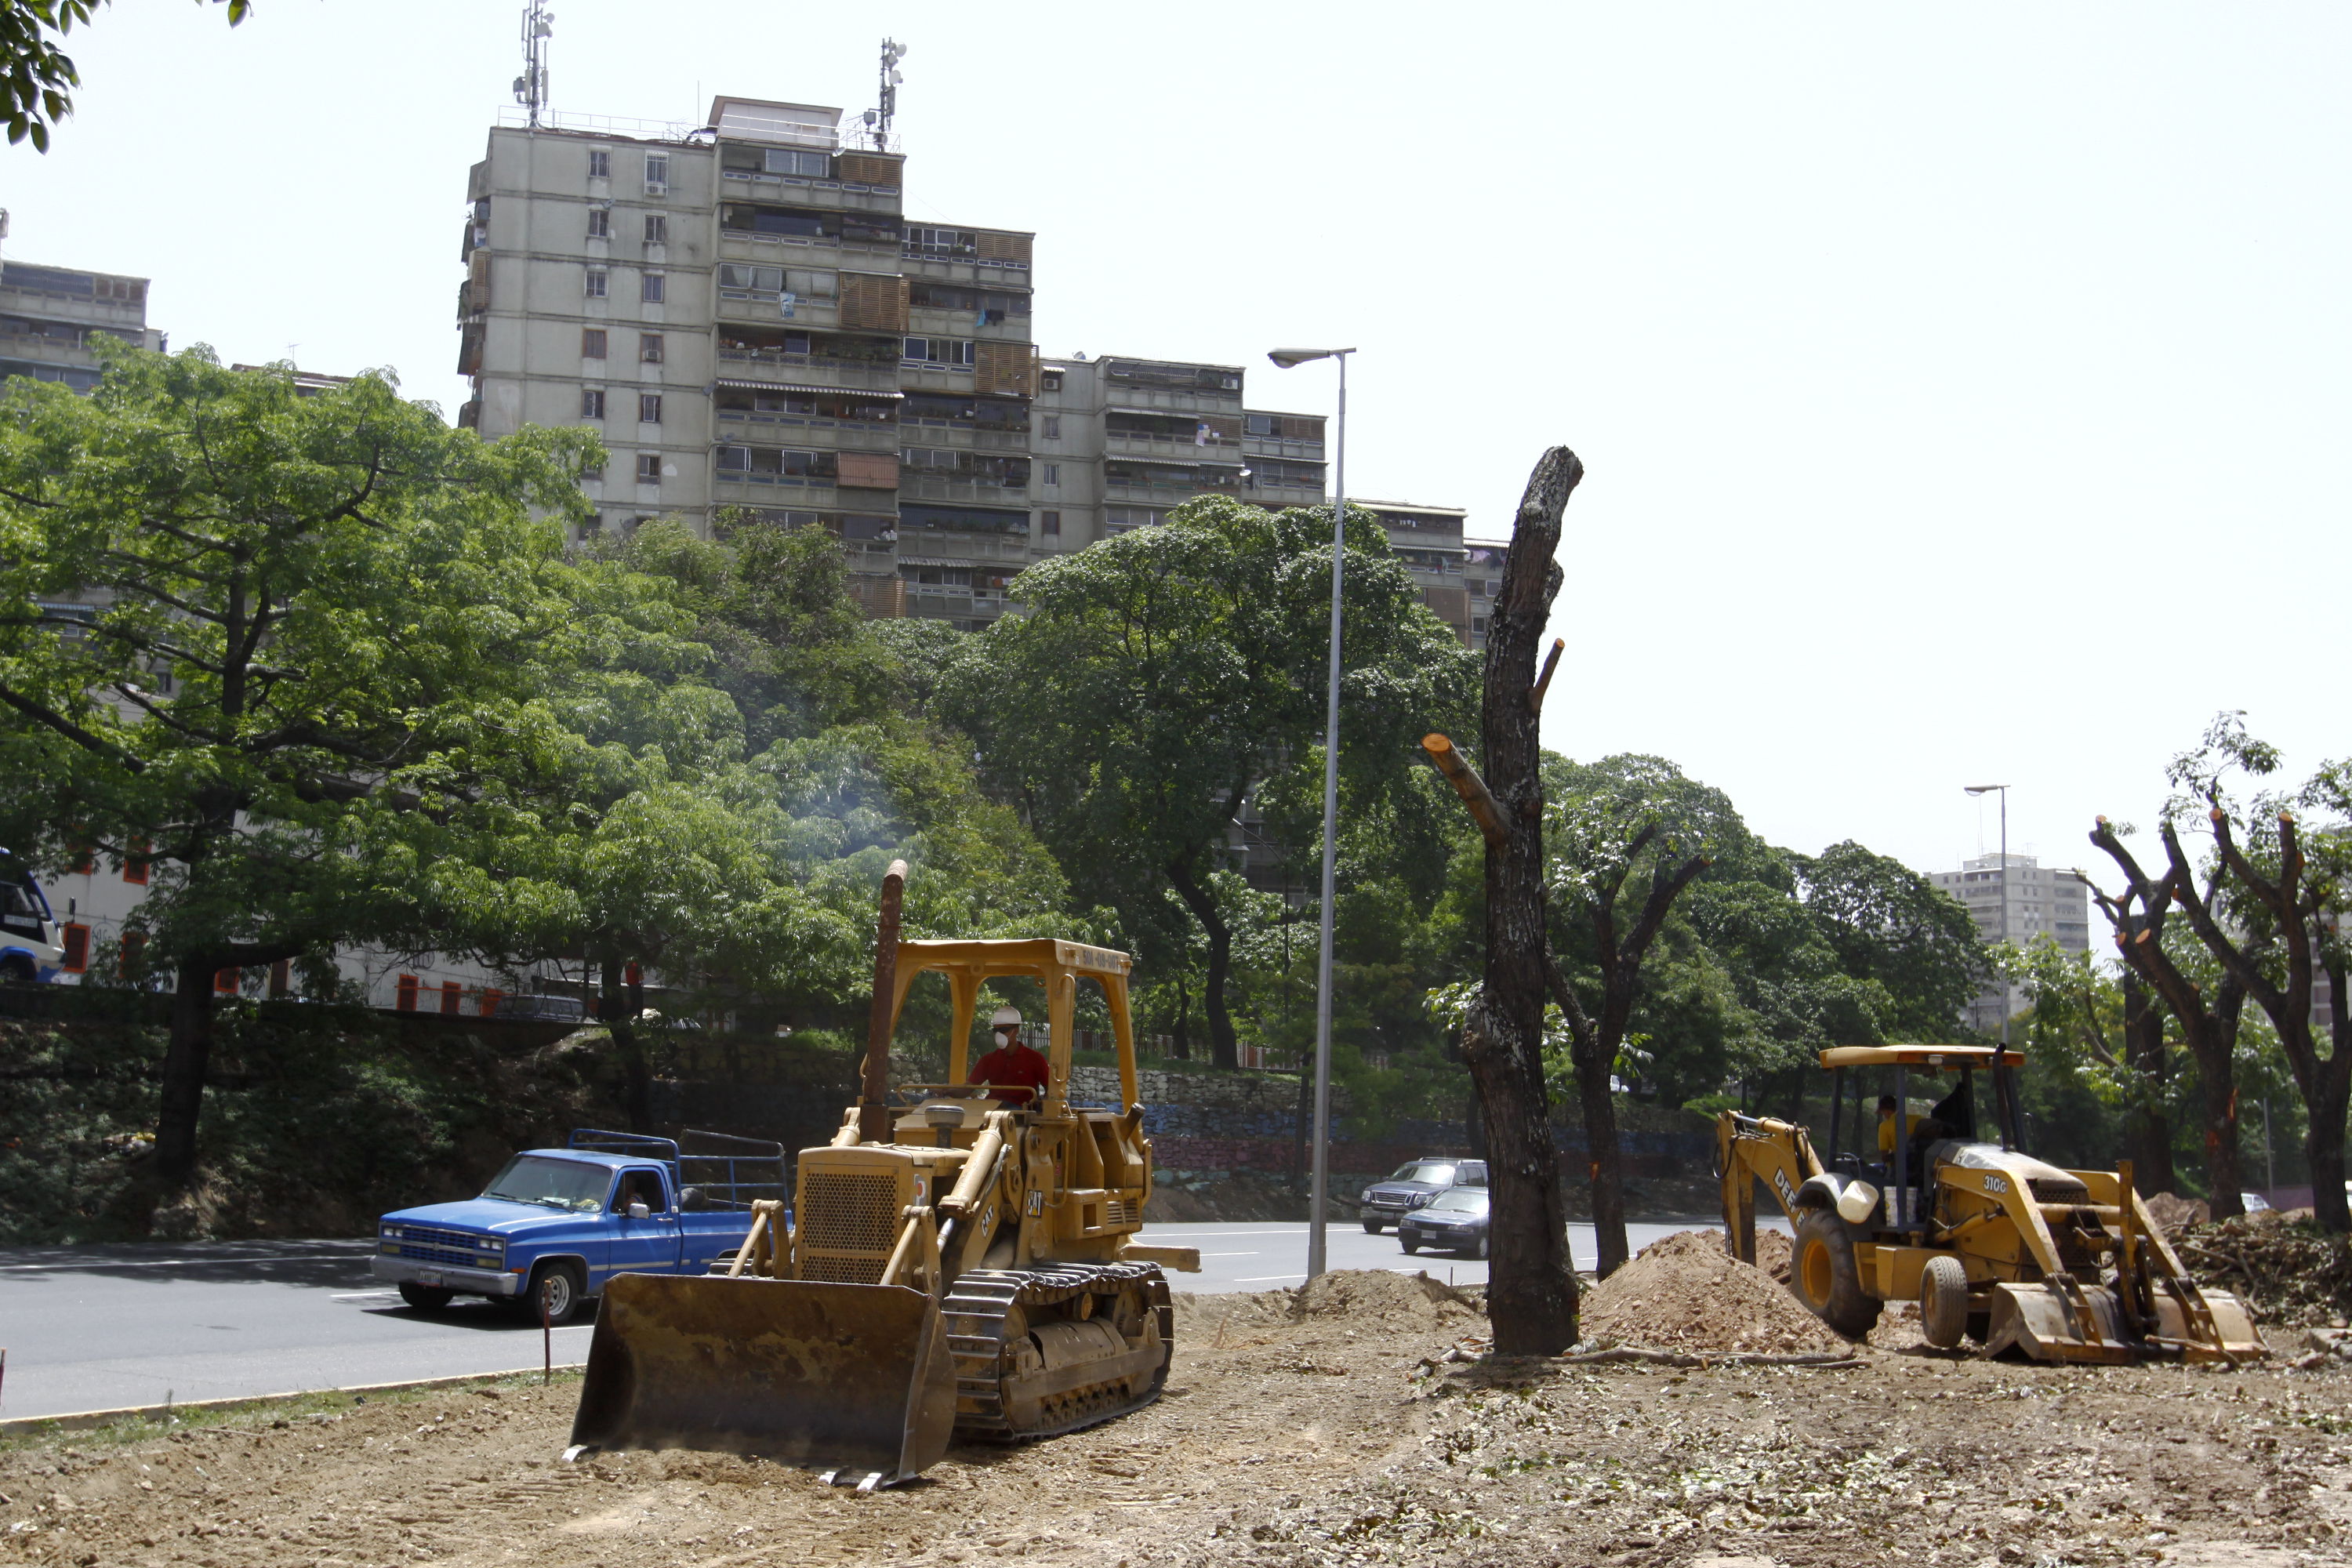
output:
[[1559,1157],[1543,1081],[1543,999],[1550,943],[1543,896],[1543,743],[1536,644],[1559,595],[1559,515],[1583,463],[1552,447],[1529,475],[1486,628],[1482,703],[1489,790],[1508,837],[1486,844],[1486,973],[1463,1027],[1463,1058],[1486,1124],[1494,1258],[1486,1316],[1503,1356],[1552,1356],[1576,1342]]

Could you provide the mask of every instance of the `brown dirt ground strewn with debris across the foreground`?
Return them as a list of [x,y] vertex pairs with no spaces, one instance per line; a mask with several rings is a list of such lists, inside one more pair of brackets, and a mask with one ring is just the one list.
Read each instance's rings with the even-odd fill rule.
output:
[[557,1460],[579,1382],[12,1441],[0,1566],[2352,1563],[2352,1368],[2044,1368],[1889,1319],[1860,1366],[1479,1359],[1399,1274],[1181,1298],[1167,1396],[873,1497]]

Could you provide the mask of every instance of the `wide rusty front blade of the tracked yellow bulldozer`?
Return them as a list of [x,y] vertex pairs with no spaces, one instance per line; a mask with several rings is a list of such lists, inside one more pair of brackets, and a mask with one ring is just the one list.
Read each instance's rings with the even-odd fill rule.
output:
[[953,1427],[955,1361],[922,1291],[616,1274],[572,1443],[755,1453],[870,1490],[936,1465]]

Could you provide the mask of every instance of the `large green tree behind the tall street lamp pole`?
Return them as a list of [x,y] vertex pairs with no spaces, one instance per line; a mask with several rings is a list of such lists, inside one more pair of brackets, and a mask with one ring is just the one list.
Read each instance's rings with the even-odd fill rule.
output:
[[[976,635],[941,710],[978,743],[1082,900],[1176,945],[1164,891],[1207,936],[1204,997],[1221,1065],[1235,929],[1214,872],[1251,790],[1322,766],[1331,614],[1329,512],[1202,496],[1021,574],[1030,614]],[[1421,607],[1388,536],[1348,515],[1341,766],[1355,795],[1404,788],[1414,741],[1463,712],[1475,661]]]

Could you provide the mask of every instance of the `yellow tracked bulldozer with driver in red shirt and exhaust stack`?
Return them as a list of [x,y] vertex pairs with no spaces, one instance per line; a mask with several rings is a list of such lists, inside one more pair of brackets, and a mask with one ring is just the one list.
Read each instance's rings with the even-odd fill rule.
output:
[[[741,1251],[708,1276],[604,1286],[572,1458],[593,1448],[757,1453],[873,1490],[946,1453],[950,1434],[1018,1441],[1157,1399],[1174,1349],[1143,1246],[1152,1145],[1136,1095],[1124,952],[1033,940],[898,940],[906,865],[882,891],[861,1098],[833,1143],[802,1150],[793,1206],[753,1206]],[[910,985],[946,976],[948,1077],[889,1084]],[[969,1081],[988,980],[1047,999],[1047,1084]],[[1070,1103],[1080,985],[1101,987],[1120,1105]]]

